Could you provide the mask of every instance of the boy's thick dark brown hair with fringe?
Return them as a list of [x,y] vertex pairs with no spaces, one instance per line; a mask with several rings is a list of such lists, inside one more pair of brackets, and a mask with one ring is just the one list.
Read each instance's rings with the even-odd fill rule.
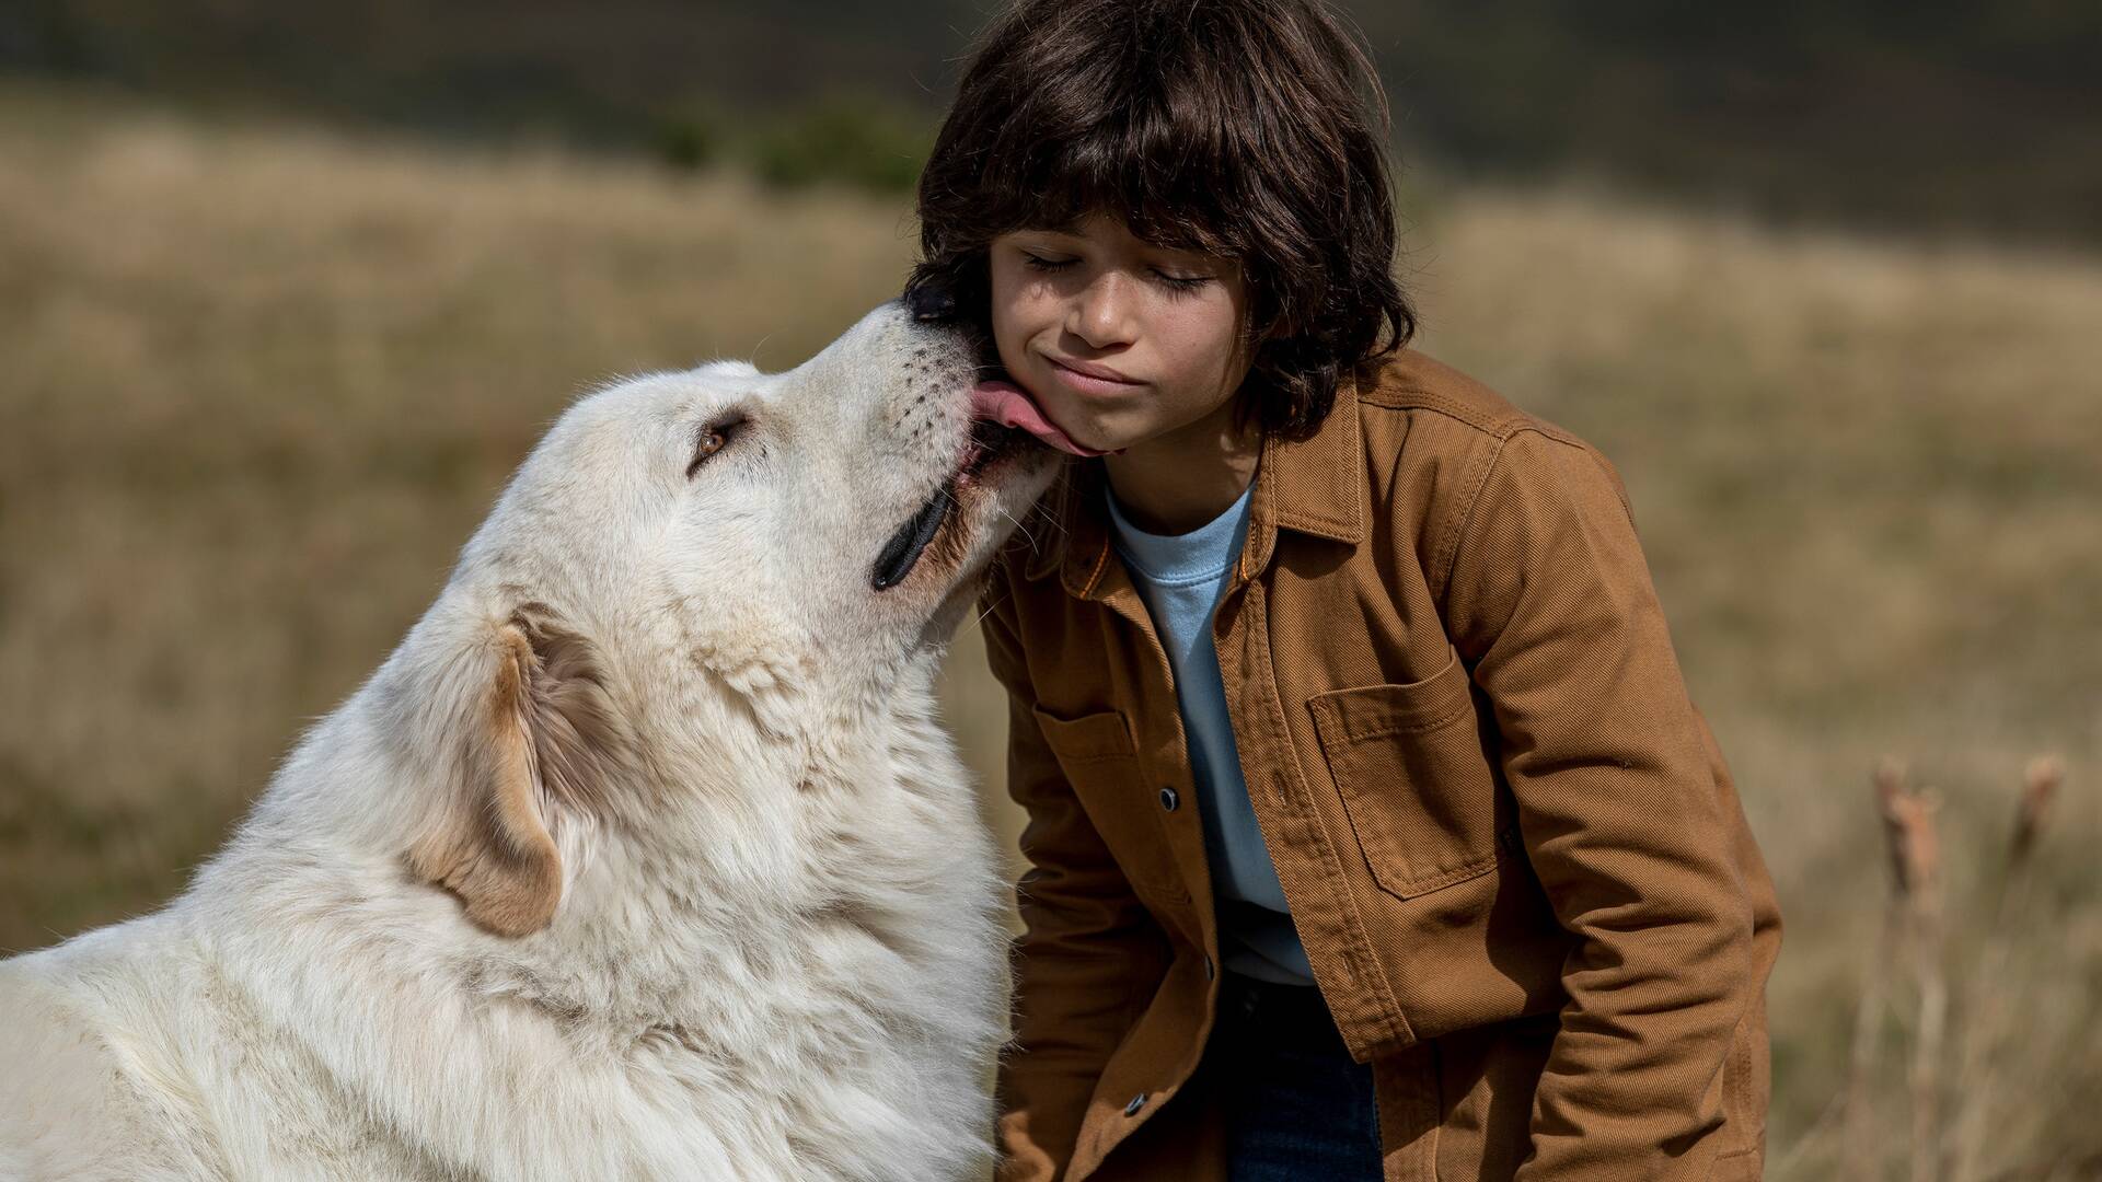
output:
[[1408,343],[1387,105],[1320,0],[1019,0],[980,40],[921,172],[908,303],[990,334],[986,248],[1089,212],[1240,263],[1242,421],[1312,433],[1337,379]]

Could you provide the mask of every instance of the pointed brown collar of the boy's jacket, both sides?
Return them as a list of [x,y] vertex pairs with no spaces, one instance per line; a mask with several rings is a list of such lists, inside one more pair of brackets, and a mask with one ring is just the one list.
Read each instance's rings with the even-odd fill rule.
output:
[[[1104,505],[1101,461],[1070,463],[1045,498],[1057,543],[1030,555],[1024,574],[1043,578],[1059,570],[1066,591],[1099,599],[1110,562],[1110,526]],[[1249,538],[1240,547],[1236,583],[1270,564],[1278,530],[1295,530],[1345,545],[1364,541],[1364,444],[1358,423],[1358,381],[1337,381],[1335,406],[1314,435],[1263,435],[1249,498]]]

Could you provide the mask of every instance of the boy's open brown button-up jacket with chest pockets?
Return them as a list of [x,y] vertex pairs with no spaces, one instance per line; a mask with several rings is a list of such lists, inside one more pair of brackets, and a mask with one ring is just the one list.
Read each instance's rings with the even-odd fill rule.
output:
[[[1009,1182],[1217,1176],[1198,795],[1099,486],[984,595],[1032,862]],[[1263,444],[1249,515],[1219,673],[1387,1180],[1757,1178],[1780,917],[1612,465],[1402,351]]]

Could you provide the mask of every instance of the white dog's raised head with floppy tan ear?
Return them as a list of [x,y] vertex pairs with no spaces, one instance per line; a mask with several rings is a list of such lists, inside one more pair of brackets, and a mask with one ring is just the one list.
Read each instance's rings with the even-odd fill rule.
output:
[[647,812],[637,784],[763,774],[799,740],[782,715],[839,719],[925,673],[1057,467],[973,416],[977,379],[965,330],[883,305],[788,372],[719,362],[574,404],[389,663],[383,726],[454,791],[412,869],[534,932],[568,837]]

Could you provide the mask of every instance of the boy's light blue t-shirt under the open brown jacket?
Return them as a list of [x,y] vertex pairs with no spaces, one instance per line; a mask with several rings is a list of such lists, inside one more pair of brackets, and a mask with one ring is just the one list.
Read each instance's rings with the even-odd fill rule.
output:
[[1204,854],[1219,909],[1219,955],[1228,970],[1244,976],[1314,984],[1299,932],[1293,930],[1278,885],[1278,869],[1263,848],[1263,831],[1249,806],[1249,784],[1240,778],[1240,751],[1225,711],[1219,681],[1219,650],[1211,641],[1211,616],[1225,589],[1225,572],[1240,557],[1249,534],[1249,488],[1217,519],[1188,534],[1148,534],[1135,528],[1108,494],[1116,553],[1131,570],[1131,583],[1152,614],[1169,669],[1175,671],[1175,707],[1190,742],[1190,772],[1196,808],[1204,824]]

